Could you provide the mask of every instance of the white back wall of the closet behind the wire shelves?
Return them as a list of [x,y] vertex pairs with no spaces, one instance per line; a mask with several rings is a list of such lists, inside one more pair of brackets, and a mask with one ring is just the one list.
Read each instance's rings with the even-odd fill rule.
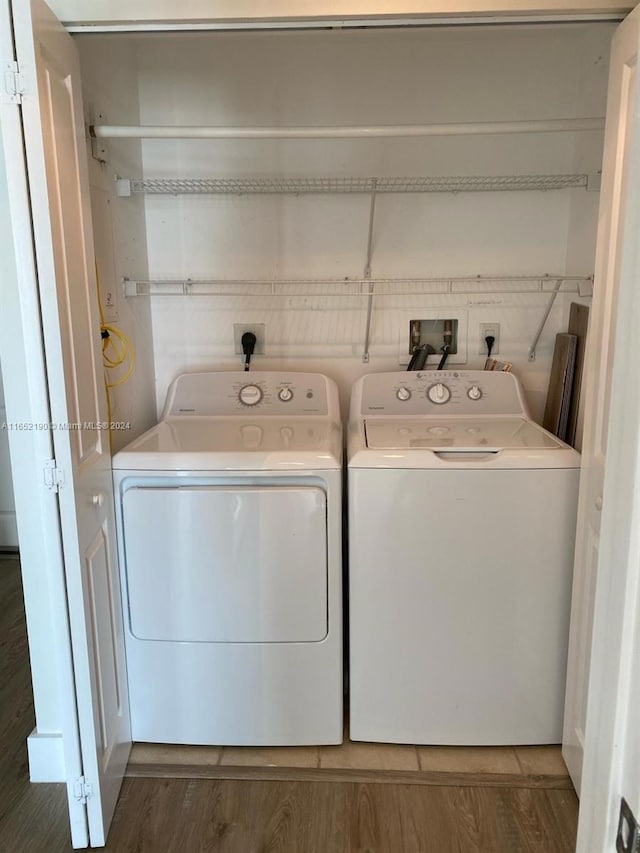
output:
[[[604,115],[611,25],[226,33],[134,39],[142,124],[392,124]],[[91,41],[88,42],[91,44]],[[587,97],[588,95],[588,97]],[[111,123],[124,123],[121,115]],[[602,134],[403,140],[143,143],[147,177],[481,175],[596,172]],[[117,143],[121,145],[122,143]],[[139,177],[127,174],[125,177]],[[117,202],[122,209],[134,199]],[[374,277],[589,275],[598,194],[379,196]],[[340,196],[147,196],[152,279],[361,277],[369,200]],[[125,270],[125,274],[135,275]],[[369,370],[400,368],[411,316],[468,320],[469,367],[481,367],[479,323],[501,325],[534,416],[544,409],[559,298],[528,362],[548,294],[379,297],[371,361],[362,363],[361,297],[153,297],[157,406],[183,370],[239,366],[233,323],[265,324],[265,368],[319,369],[343,401]],[[131,300],[134,302],[135,300]]]

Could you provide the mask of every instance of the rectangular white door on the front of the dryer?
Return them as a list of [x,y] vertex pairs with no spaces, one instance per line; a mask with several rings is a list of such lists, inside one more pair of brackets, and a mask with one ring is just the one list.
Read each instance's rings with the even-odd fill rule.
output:
[[141,640],[314,642],[327,635],[326,496],[313,486],[134,487],[126,595]]

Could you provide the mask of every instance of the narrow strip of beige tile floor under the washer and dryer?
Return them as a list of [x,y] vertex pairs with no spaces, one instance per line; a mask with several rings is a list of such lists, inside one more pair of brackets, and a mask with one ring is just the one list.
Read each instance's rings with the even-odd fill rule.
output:
[[291,767],[566,777],[559,746],[442,747],[356,743],[320,747],[134,745],[131,765]]

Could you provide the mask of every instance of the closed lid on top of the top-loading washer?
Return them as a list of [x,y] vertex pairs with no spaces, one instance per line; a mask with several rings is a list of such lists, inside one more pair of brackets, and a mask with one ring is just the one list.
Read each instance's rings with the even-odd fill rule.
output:
[[527,418],[369,418],[364,425],[366,446],[372,450],[496,453],[501,450],[566,449],[559,439]]

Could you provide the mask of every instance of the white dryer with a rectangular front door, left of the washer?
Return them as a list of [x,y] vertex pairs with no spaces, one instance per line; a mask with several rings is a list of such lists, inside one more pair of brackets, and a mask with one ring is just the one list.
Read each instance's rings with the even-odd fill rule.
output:
[[319,374],[178,377],[113,460],[133,739],[342,742],[342,439]]

